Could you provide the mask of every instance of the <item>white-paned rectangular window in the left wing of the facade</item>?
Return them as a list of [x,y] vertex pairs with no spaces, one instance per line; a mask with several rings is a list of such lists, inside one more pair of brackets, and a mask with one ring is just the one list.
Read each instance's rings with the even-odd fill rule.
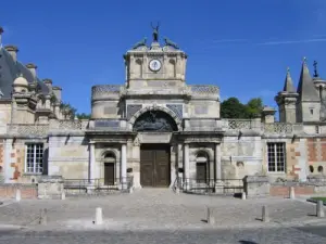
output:
[[41,174],[43,169],[43,145],[26,145],[26,172]]

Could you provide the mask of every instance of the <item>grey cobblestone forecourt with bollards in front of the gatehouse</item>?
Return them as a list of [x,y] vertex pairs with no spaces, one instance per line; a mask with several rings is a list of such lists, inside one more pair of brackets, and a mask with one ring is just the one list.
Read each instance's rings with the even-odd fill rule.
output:
[[[261,219],[266,205],[271,222]],[[205,222],[213,207],[215,224]],[[96,207],[104,222],[95,226]],[[39,211],[48,209],[48,224]],[[324,226],[323,226],[324,224]],[[22,201],[0,207],[0,243],[326,243],[315,205],[284,198],[238,200],[142,189],[127,195]],[[323,231],[319,231],[323,229]],[[321,234],[322,233],[322,234]],[[242,242],[240,242],[242,241]]]

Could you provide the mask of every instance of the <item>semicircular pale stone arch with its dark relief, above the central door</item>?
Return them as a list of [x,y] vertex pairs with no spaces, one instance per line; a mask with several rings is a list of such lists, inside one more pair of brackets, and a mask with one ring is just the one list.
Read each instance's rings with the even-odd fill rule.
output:
[[178,116],[173,111],[163,106],[153,105],[143,107],[135,113],[129,120],[133,129],[135,128],[135,125],[138,126],[137,128],[141,127],[139,125],[140,121],[143,121],[142,128],[151,130],[152,127],[151,131],[155,129],[158,129],[156,131],[160,131],[161,129],[167,132],[167,127],[172,128],[171,132],[181,130],[181,120],[178,118]]

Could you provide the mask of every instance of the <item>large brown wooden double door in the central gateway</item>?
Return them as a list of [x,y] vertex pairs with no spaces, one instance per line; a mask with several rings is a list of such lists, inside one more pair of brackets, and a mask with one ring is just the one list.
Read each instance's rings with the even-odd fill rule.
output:
[[142,187],[170,185],[170,145],[145,144],[141,146],[140,183]]

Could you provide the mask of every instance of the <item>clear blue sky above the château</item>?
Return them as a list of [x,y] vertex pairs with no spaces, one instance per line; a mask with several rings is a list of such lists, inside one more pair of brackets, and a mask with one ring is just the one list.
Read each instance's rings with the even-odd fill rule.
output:
[[7,0],[1,9],[3,43],[79,113],[90,112],[91,86],[124,84],[123,54],[151,38],[155,21],[187,52],[187,82],[216,85],[222,99],[276,107],[286,68],[297,86],[303,56],[326,78],[325,0]]

